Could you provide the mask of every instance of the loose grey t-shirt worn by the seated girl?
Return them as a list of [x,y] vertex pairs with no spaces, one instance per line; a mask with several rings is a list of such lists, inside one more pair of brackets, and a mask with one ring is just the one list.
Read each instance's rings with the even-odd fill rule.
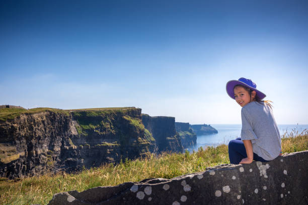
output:
[[251,140],[253,152],[265,160],[275,159],[281,150],[279,129],[272,109],[252,101],[242,108],[242,140]]

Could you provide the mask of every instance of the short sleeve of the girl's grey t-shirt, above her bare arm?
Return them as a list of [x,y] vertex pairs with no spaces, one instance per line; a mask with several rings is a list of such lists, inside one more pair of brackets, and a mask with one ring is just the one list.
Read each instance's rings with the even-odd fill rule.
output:
[[245,112],[242,109],[242,131],[241,131],[241,139],[242,140],[255,140],[258,139],[257,135],[253,131],[252,122],[249,121],[249,113]]

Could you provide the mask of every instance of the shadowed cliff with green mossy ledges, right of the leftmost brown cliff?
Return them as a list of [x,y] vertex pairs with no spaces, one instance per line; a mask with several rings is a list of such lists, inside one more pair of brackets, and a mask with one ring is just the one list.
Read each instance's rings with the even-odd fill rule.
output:
[[[155,139],[141,122],[141,109],[122,111],[74,111],[71,138],[73,152],[66,163],[71,168],[99,166],[133,159],[153,152]],[[90,149],[89,149],[90,148]]]

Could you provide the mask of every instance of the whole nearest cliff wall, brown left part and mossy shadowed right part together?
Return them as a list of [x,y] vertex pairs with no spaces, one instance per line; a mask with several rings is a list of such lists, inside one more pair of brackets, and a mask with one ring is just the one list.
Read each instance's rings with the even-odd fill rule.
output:
[[154,148],[141,109],[21,113],[0,121],[0,176],[90,168],[144,156]]

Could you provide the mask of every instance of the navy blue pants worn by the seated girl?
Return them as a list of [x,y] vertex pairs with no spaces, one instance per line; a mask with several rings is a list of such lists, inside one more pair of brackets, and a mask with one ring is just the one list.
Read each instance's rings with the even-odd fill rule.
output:
[[[228,145],[229,149],[229,159],[231,164],[239,164],[242,159],[247,157],[246,149],[241,138],[237,138],[235,140],[231,140]],[[254,160],[261,162],[268,162],[262,157],[259,157],[256,153],[254,153]]]

